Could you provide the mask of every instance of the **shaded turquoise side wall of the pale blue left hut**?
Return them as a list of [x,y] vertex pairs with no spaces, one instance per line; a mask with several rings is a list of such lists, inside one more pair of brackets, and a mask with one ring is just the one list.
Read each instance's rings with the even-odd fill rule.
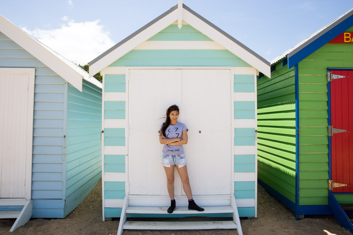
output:
[[65,216],[102,177],[102,90],[83,80],[82,92],[67,89]]

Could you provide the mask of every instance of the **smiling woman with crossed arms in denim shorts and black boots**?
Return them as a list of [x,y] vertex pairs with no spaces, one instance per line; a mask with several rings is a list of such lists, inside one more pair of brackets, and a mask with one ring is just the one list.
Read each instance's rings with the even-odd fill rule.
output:
[[187,144],[187,128],[184,123],[178,122],[179,107],[172,105],[167,109],[166,122],[159,131],[159,141],[164,144],[162,165],[167,175],[167,187],[170,197],[170,207],[167,212],[173,213],[175,209],[174,199],[174,166],[177,168],[184,192],[189,199],[189,210],[203,211],[204,209],[196,205],[192,199],[189,176],[187,175],[186,160],[183,144]]

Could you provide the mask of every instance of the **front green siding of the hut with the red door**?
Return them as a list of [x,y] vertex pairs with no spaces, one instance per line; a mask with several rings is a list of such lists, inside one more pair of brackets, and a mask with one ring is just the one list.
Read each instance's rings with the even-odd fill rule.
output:
[[[353,27],[347,31],[353,31]],[[325,44],[298,64],[299,72],[299,204],[327,205],[328,93],[327,68],[353,67],[349,44]],[[340,203],[352,203],[339,196]]]

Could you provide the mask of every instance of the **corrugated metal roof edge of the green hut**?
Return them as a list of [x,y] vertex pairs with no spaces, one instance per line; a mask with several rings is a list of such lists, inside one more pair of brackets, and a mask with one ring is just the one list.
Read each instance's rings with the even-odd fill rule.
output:
[[310,35],[309,37],[305,38],[303,41],[294,45],[292,48],[286,50],[281,55],[275,57],[273,60],[271,60],[271,64],[278,62],[279,60],[286,57],[287,55],[289,55],[289,57],[291,57],[292,55],[294,55],[295,53],[297,53],[298,51],[300,51],[301,49],[306,47],[308,44],[312,43],[317,38],[322,36],[324,33],[328,32],[330,29],[332,29],[336,25],[340,24],[342,21],[344,21],[348,17],[352,16],[352,14],[353,14],[353,8],[351,10],[345,12],[344,14],[342,14],[340,17],[334,19],[329,24],[325,25],[324,27],[322,27],[321,29],[319,29],[318,31],[316,31],[315,33]]

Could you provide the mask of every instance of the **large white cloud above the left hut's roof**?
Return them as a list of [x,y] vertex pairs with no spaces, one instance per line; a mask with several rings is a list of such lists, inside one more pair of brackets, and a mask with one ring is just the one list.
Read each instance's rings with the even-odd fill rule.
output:
[[22,29],[68,60],[86,64],[115,44],[99,21],[68,21],[60,29],[51,30]]

